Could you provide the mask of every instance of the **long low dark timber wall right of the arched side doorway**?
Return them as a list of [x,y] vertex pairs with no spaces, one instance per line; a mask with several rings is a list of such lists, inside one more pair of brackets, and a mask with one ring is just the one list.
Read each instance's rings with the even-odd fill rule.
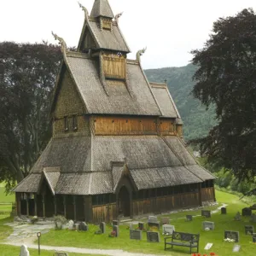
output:
[[166,195],[148,200],[132,201],[133,215],[143,215],[147,213],[160,213],[183,207],[197,207],[200,205],[199,194],[186,193],[180,195]]

